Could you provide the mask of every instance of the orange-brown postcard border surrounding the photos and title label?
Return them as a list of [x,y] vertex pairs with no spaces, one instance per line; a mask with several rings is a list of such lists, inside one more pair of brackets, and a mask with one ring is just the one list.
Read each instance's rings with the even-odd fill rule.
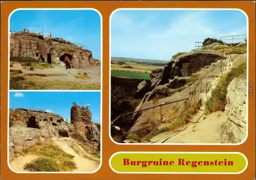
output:
[[[20,179],[225,179],[250,180],[255,178],[255,3],[253,1],[94,1],[94,2],[1,2],[1,176],[4,180]],[[7,93],[8,93],[8,17],[17,8],[95,8],[102,14],[103,22],[103,107],[102,115],[102,166],[94,174],[16,174],[7,165]],[[253,97],[249,98],[249,135],[245,143],[238,146],[218,145],[139,145],[120,146],[109,137],[109,17],[118,8],[237,8],[249,17],[249,81],[253,86]],[[170,55],[172,56],[172,55]],[[110,148],[111,147],[111,148]],[[109,158],[117,151],[238,151],[248,161],[248,168],[242,174],[117,174],[109,167]],[[108,174],[108,175],[106,175]]]

